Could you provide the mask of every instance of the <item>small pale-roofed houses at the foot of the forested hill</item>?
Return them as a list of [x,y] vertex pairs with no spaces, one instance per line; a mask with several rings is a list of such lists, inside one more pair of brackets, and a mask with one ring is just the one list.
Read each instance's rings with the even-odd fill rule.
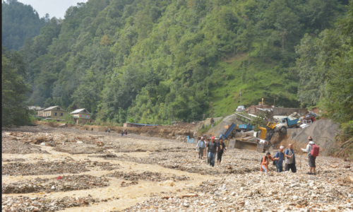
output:
[[[41,107],[30,107],[30,110],[35,110],[37,112],[37,117],[43,119],[55,119],[57,122],[64,121],[64,116],[67,111],[60,106],[52,106],[47,108]],[[73,116],[73,120],[76,124],[85,124],[86,122],[92,122],[92,114],[85,108],[75,110],[70,112]]]

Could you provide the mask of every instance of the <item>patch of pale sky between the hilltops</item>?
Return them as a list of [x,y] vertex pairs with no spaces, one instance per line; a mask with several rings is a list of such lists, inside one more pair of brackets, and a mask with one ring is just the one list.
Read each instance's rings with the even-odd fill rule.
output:
[[40,18],[45,13],[49,13],[50,18],[64,19],[66,10],[70,6],[76,6],[78,2],[87,2],[87,0],[18,0],[23,4],[30,4],[38,12]]

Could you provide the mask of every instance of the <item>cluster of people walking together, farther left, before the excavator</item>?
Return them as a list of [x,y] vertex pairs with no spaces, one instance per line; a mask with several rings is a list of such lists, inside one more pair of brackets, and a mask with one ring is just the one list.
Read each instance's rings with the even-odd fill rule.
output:
[[[215,141],[215,137],[211,137],[211,141],[207,141],[207,136],[201,137],[196,145],[196,150],[198,151],[198,158],[207,158],[207,164],[215,167],[215,157],[217,154],[217,165],[220,165],[222,161],[222,155],[225,153],[225,143],[223,139],[220,138],[219,141]],[[207,154],[206,154],[207,153]],[[204,156],[205,155],[205,156]]]

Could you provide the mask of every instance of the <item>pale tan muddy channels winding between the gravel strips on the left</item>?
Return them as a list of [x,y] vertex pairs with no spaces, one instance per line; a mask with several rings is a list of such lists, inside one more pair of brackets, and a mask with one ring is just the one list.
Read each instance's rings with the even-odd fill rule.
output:
[[[54,136],[54,134],[65,134],[67,136],[80,136],[80,137],[88,137],[90,135],[102,135],[102,141],[104,143],[116,143],[119,148],[117,150],[107,150],[105,153],[112,152],[116,153],[116,151],[127,150],[133,151],[137,149],[143,150],[143,152],[133,152],[133,153],[119,153],[117,152],[117,156],[131,156],[134,158],[147,158],[150,155],[150,151],[160,151],[162,149],[169,149],[169,148],[193,148],[193,144],[189,143],[181,143],[177,140],[169,140],[169,139],[161,139],[161,138],[153,138],[153,137],[146,137],[146,136],[138,136],[134,134],[129,134],[127,138],[122,137],[120,134],[116,134],[112,132],[111,134],[107,134],[104,132],[97,132],[97,131],[81,131],[78,129],[59,129],[59,128],[52,128],[49,126],[24,126],[20,129],[14,129],[11,131],[18,131],[18,132],[25,132],[25,133],[32,133],[32,136],[38,133],[45,133],[49,136]],[[3,136],[6,136],[11,131],[3,131]],[[31,144],[32,145],[32,144]],[[76,144],[79,146],[80,144]],[[34,145],[39,146],[39,145]],[[112,164],[119,165],[119,170],[111,170],[111,171],[104,171],[101,170],[99,167],[97,168],[89,168],[89,172],[81,172],[80,174],[74,175],[92,175],[96,177],[101,177],[102,175],[107,175],[109,173],[113,173],[115,171],[119,172],[162,172],[164,175],[177,175],[177,176],[187,176],[190,177],[190,180],[187,181],[177,181],[174,182],[174,186],[164,186],[160,185],[160,182],[148,182],[148,181],[139,181],[138,184],[132,185],[129,187],[121,187],[121,182],[124,181],[123,179],[116,179],[114,177],[107,177],[109,178],[109,186],[103,188],[96,188],[96,189],[87,189],[87,190],[77,190],[77,191],[70,191],[70,192],[52,192],[49,194],[27,194],[30,197],[49,197],[51,199],[60,198],[63,196],[87,196],[90,194],[94,198],[100,199],[112,199],[112,201],[101,202],[96,205],[90,205],[90,207],[75,207],[75,208],[66,208],[64,211],[113,211],[113,210],[121,210],[124,208],[128,208],[133,206],[134,204],[145,201],[150,196],[161,195],[160,192],[172,192],[175,194],[186,194],[188,193],[188,188],[191,186],[195,186],[200,184],[201,182],[207,179],[215,179],[216,177],[213,176],[205,176],[200,175],[197,173],[189,173],[183,172],[180,170],[172,170],[168,168],[161,167],[160,165],[146,165],[146,164],[139,164],[133,163],[124,160],[105,160],[104,158],[94,158],[89,157],[92,156],[91,154],[70,154],[64,153],[59,151],[54,151],[55,147],[52,146],[39,146],[42,148],[42,151],[47,151],[48,154],[40,154],[40,153],[28,153],[28,154],[2,154],[2,160],[13,160],[16,158],[22,158],[25,161],[20,163],[36,163],[37,161],[64,161],[66,158],[72,158],[76,161],[84,161],[85,159],[90,159],[92,162],[109,162]],[[3,162],[3,170],[4,165],[10,164],[13,162]],[[18,182],[25,179],[34,179],[35,177],[58,177],[59,175],[25,175],[25,176],[6,176],[2,175],[2,184],[9,184],[11,182]],[[64,175],[71,175],[71,174],[64,174]],[[178,191],[178,192],[177,192]],[[21,196],[23,194],[3,194],[2,196]],[[113,199],[113,198],[119,199]]]

